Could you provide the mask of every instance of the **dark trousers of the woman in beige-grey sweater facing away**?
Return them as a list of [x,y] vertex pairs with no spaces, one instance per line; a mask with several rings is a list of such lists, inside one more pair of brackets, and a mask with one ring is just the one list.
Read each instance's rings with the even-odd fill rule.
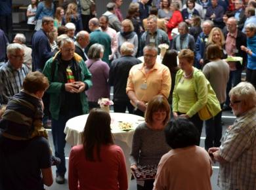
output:
[[[223,104],[221,104],[223,109]],[[223,126],[221,125],[220,111],[215,117],[205,121],[205,149],[208,150],[210,147],[219,147],[221,145],[221,137],[223,135]]]

